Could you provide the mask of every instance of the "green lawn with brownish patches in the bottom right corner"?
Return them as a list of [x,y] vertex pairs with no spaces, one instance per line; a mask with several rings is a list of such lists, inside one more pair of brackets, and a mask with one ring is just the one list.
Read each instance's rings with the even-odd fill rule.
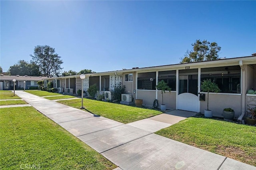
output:
[[256,127],[190,117],[156,134],[256,166]]

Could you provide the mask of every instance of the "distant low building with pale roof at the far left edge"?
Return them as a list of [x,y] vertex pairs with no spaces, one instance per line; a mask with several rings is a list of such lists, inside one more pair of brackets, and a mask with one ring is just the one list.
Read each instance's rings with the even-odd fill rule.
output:
[[[13,90],[14,82],[13,79],[16,79],[15,88],[16,89],[30,89],[30,87],[38,87],[37,82],[45,79],[47,77],[34,77],[28,75],[0,75],[0,90]],[[25,83],[24,83],[25,81]]]

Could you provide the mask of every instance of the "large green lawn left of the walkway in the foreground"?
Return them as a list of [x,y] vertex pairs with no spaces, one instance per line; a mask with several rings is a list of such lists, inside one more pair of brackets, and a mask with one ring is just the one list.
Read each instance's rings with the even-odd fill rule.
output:
[[0,109],[0,169],[114,169],[116,166],[32,107]]

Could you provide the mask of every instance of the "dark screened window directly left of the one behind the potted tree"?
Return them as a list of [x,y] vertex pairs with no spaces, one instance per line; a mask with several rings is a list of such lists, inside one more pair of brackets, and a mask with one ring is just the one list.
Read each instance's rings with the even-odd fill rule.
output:
[[138,89],[156,90],[156,72],[138,73]]

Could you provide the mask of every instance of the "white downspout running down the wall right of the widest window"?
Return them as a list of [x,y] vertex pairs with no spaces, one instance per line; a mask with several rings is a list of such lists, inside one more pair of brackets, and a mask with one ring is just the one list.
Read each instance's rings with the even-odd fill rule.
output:
[[246,97],[246,87],[245,87],[245,67],[243,65],[243,61],[240,60],[239,61],[239,65],[241,67],[241,94],[242,94],[242,113],[241,115],[238,117],[238,121],[242,121],[244,115],[245,115],[245,97]]

